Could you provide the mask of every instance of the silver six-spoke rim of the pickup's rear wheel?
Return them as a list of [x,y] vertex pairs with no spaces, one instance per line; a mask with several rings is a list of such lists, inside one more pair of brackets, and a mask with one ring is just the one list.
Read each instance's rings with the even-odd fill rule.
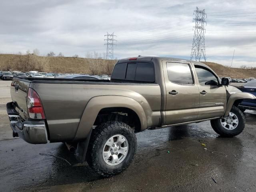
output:
[[110,137],[103,148],[103,159],[106,164],[115,166],[120,164],[127,156],[128,141],[122,135]]

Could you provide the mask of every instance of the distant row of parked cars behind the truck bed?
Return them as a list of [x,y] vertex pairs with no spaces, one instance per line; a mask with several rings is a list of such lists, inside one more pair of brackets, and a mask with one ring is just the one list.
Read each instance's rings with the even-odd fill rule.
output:
[[70,78],[70,79],[102,79],[110,80],[108,75],[89,75],[89,74],[62,74],[46,73],[38,71],[20,72],[20,71],[0,71],[2,80],[12,80],[13,77],[35,77],[35,78]]

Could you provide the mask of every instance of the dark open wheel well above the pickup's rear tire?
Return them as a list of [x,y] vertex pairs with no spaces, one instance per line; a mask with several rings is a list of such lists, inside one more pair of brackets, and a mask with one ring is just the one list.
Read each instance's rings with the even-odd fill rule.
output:
[[94,126],[98,126],[104,122],[108,121],[121,121],[128,124],[131,128],[134,129],[135,132],[140,132],[141,124],[140,118],[129,108],[124,107],[111,107],[111,108],[103,108],[98,113],[96,120],[94,122]]

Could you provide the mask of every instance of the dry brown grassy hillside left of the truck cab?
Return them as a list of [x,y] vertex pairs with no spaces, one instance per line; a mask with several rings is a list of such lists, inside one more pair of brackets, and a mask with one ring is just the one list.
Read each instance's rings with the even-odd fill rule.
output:
[[[83,73],[92,74],[89,66],[92,60],[87,58],[74,58],[74,57],[44,57],[44,56],[34,56],[44,64],[44,72],[55,72],[55,73]],[[19,70],[19,71],[30,71],[38,70],[40,71],[39,64],[28,65],[31,62],[32,55],[15,55],[15,54],[0,54],[0,70]],[[109,73],[109,68],[114,66],[115,60],[104,60],[96,59],[97,66],[99,68],[97,72],[99,74],[104,74],[103,68],[106,68],[106,73]],[[29,61],[29,62],[28,62]]]

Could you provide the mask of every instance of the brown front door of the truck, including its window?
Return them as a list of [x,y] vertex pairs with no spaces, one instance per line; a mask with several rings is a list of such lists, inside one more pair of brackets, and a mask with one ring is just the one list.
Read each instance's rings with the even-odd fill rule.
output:
[[198,120],[221,117],[226,110],[226,89],[220,85],[220,80],[206,66],[195,64],[200,104]]

